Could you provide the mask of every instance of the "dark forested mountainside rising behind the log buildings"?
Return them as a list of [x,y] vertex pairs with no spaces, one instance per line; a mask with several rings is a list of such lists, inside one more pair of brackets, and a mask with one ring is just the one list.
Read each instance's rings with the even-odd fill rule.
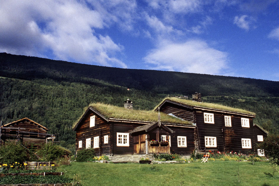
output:
[[[181,72],[85,65],[0,53],[0,118],[28,117],[56,133],[73,150],[72,124],[91,102],[153,109],[166,96],[200,92],[203,101],[257,114],[255,124],[279,128],[279,82]],[[129,90],[127,90],[129,88]]]

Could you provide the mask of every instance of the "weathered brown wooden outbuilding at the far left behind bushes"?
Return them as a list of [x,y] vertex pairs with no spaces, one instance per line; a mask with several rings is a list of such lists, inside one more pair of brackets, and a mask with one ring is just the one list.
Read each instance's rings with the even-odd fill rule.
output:
[[0,145],[6,141],[21,141],[26,148],[37,149],[47,140],[55,139],[53,134],[47,134],[49,130],[29,118],[22,118],[1,126]]

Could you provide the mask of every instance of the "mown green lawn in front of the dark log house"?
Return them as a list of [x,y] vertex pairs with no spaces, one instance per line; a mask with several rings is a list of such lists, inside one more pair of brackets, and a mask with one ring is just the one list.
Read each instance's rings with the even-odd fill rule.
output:
[[[239,176],[238,176],[239,168]],[[102,164],[72,162],[58,171],[79,174],[83,186],[92,185],[279,185],[279,173],[268,162],[211,161],[185,164]]]

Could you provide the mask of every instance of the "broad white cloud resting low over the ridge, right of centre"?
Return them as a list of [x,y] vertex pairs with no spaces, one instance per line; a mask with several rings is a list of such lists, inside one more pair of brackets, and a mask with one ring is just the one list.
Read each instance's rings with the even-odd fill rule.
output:
[[220,75],[225,74],[228,54],[209,47],[204,41],[190,40],[165,43],[150,51],[144,61],[150,69]]

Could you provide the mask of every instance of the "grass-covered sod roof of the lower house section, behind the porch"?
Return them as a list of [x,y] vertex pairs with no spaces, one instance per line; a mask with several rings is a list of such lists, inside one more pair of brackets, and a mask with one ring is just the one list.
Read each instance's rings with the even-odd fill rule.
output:
[[[124,107],[107,105],[104,103],[92,103],[89,105],[89,107],[92,107],[92,109],[96,110],[107,119],[114,118],[114,119],[149,121],[149,122],[158,121],[158,112],[154,112],[152,110],[148,111],[148,110],[125,109]],[[182,121],[178,118],[174,118],[162,112],[160,112],[160,116],[161,116],[162,123],[193,125],[189,121]],[[76,124],[77,122],[74,124],[73,127],[75,127]]]

